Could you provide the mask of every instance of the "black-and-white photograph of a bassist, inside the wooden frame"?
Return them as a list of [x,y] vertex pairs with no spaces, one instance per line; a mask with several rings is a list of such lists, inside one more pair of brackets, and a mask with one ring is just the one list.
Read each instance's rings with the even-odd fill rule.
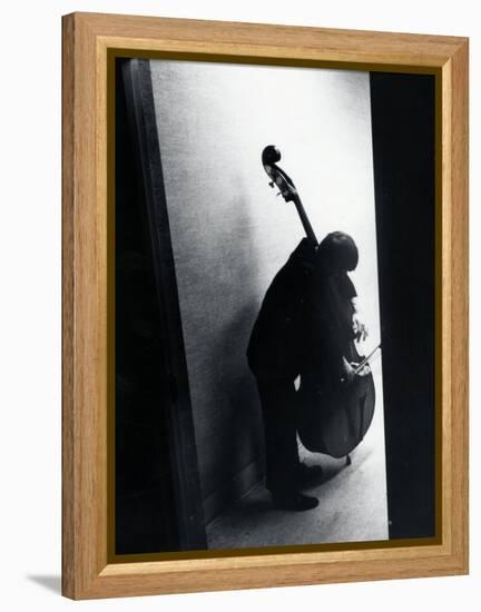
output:
[[117,58],[114,92],[115,555],[434,541],[434,76]]

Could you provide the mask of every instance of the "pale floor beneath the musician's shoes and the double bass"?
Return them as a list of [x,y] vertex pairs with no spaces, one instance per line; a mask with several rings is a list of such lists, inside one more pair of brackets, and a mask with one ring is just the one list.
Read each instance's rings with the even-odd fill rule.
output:
[[[209,549],[387,540],[387,502],[381,377],[373,372],[376,407],[352,464],[301,447],[303,461],[323,466],[321,482],[304,490],[320,505],[306,512],[276,510],[262,484],[207,527]],[[376,375],[377,374],[377,375]]]

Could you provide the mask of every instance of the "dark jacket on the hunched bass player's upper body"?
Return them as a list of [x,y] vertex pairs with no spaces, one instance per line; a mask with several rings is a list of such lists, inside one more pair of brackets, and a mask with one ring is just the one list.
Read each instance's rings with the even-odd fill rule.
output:
[[356,294],[346,274],[327,279],[314,261],[304,238],[268,287],[247,348],[255,376],[338,376],[351,328],[338,314]]

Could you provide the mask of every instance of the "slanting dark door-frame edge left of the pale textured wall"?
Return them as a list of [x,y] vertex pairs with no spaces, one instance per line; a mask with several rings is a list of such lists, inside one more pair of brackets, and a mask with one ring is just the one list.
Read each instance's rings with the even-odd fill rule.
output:
[[[168,430],[179,550],[206,547],[204,513],[149,62],[125,60],[129,121],[140,161],[163,337],[159,376],[166,382]],[[143,552],[143,551],[140,551]]]

